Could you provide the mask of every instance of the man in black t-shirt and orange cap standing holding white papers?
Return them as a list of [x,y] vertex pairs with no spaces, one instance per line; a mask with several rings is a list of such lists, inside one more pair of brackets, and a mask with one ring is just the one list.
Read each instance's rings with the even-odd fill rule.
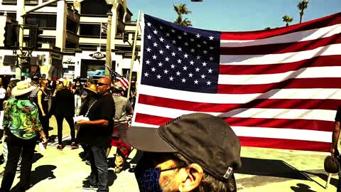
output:
[[100,78],[97,81],[97,94],[99,96],[96,100],[90,100],[87,105],[85,117],[89,117],[89,121],[77,121],[80,125],[77,140],[86,144],[90,150],[91,174],[83,188],[109,191],[106,151],[112,135],[115,115],[115,103],[110,94],[109,78]]

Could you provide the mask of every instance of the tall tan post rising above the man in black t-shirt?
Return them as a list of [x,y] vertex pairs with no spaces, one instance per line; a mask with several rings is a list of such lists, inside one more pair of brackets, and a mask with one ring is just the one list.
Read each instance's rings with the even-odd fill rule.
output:
[[[107,46],[106,46],[106,57],[105,57],[105,64],[112,68],[112,6],[114,6],[115,0],[105,0],[108,5],[108,28],[107,28]],[[109,75],[109,70],[105,68],[105,74]]]

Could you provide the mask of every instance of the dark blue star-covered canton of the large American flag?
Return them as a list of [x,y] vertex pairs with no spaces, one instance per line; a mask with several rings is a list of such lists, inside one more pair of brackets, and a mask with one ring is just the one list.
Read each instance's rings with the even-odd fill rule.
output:
[[220,32],[178,26],[144,15],[141,84],[217,92]]

